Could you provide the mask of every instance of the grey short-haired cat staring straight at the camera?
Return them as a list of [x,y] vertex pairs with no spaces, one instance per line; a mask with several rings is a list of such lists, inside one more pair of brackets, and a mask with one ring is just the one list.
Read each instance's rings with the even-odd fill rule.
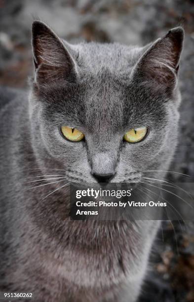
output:
[[[32,292],[37,302],[137,300],[159,222],[70,220],[67,184],[165,177],[183,37],[179,27],[145,47],[72,45],[33,23],[29,96],[0,91],[1,291]],[[65,139],[62,125],[84,140]],[[123,140],[142,126],[144,140]]]

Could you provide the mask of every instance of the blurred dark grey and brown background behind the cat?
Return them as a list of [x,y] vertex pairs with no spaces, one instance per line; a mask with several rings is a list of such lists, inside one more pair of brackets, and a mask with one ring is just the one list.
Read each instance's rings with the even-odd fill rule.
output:
[[[144,45],[182,25],[179,146],[171,171],[194,180],[194,0],[0,0],[0,85],[28,88],[31,26],[49,24],[69,41]],[[186,182],[169,173],[173,182]],[[139,302],[194,302],[194,223],[164,222]]]

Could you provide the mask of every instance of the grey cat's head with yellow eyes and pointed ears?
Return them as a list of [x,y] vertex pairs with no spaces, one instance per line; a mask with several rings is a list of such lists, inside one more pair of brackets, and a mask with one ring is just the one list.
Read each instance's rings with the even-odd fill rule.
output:
[[145,47],[72,45],[35,21],[30,114],[41,164],[89,183],[166,170],[177,141],[183,36],[179,27]]

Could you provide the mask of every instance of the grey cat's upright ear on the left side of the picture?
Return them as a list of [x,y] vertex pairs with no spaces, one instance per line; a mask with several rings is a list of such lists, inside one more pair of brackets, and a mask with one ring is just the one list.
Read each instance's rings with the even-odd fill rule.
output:
[[37,83],[75,80],[73,57],[63,41],[43,22],[33,22],[32,45]]

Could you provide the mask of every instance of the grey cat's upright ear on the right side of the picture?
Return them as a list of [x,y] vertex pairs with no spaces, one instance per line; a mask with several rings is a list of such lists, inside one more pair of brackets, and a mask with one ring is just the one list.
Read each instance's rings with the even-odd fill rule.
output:
[[140,84],[161,92],[172,92],[177,83],[180,55],[183,47],[184,30],[170,30],[157,39],[137,62],[133,75]]

